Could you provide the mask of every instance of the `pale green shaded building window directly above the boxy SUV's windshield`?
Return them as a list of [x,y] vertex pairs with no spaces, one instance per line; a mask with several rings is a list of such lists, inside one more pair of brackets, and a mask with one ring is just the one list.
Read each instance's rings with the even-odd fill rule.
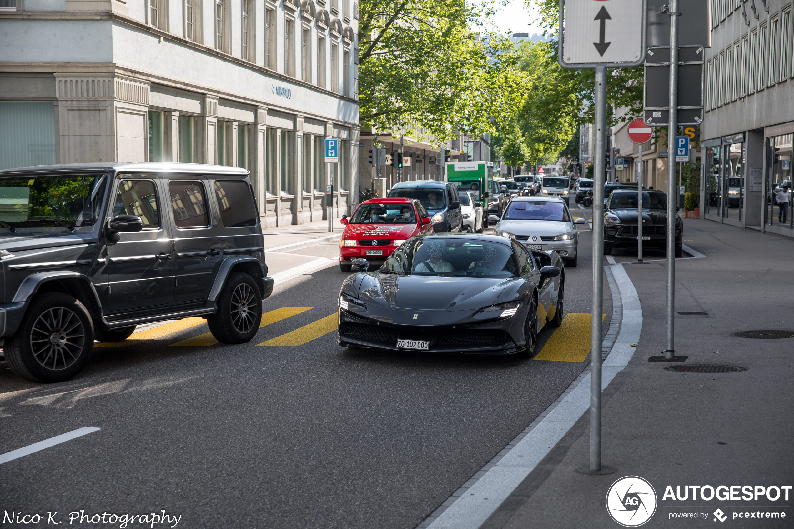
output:
[[0,138],[0,169],[56,163],[55,105],[0,102]]

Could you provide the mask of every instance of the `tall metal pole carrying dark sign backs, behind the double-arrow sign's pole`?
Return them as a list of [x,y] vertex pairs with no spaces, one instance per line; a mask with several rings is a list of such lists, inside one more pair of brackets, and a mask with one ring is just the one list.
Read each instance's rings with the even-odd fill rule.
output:
[[676,159],[678,136],[678,0],[670,0],[670,111],[667,128],[667,339],[665,360],[676,356]]

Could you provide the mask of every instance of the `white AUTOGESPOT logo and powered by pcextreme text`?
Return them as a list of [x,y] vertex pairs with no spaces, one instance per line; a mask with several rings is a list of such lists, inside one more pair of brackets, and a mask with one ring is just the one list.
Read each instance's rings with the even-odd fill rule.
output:
[[[623,527],[646,523],[657,506],[665,509],[667,518],[672,520],[725,523],[734,519],[742,522],[746,519],[785,519],[788,513],[784,509],[792,508],[789,500],[792,488],[792,485],[675,485],[673,489],[673,485],[666,485],[659,505],[649,481],[625,476],[607,491],[607,512]],[[715,505],[717,502],[726,504]]]

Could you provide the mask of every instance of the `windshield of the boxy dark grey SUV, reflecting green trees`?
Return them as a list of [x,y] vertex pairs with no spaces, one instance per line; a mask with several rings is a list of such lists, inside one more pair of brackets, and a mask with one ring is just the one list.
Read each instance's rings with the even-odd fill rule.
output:
[[104,180],[103,174],[0,178],[2,228],[61,232],[93,226],[99,217]]

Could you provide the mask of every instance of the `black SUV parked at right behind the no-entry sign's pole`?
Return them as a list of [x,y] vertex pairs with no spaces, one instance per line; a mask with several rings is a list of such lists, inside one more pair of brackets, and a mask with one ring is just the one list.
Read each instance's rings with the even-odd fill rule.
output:
[[[603,216],[603,253],[615,248],[637,248],[637,190],[615,190]],[[683,255],[684,223],[676,214],[676,257]],[[642,247],[667,248],[667,195],[664,191],[642,191]]]

